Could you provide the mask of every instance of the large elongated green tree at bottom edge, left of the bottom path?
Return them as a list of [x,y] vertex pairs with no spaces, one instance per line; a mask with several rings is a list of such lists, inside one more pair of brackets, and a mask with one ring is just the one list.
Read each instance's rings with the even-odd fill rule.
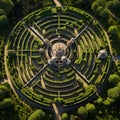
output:
[[41,110],[35,110],[28,118],[28,120],[43,120],[45,113]]

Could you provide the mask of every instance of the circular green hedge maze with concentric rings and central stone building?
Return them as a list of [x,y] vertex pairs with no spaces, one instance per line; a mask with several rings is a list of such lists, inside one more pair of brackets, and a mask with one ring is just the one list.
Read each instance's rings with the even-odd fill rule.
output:
[[108,37],[99,22],[77,8],[37,10],[14,27],[7,69],[16,92],[42,108],[74,108],[97,96],[109,74]]

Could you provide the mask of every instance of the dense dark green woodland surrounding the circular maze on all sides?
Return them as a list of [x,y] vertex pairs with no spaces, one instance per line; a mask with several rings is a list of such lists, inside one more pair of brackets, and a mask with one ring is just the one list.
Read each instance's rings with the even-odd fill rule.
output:
[[[93,15],[107,31],[113,55],[120,57],[120,1],[119,0],[59,0],[63,6],[74,6]],[[14,25],[30,12],[55,6],[53,0],[1,0],[0,1],[0,81],[6,79],[4,45]],[[106,88],[91,103],[62,114],[63,120],[120,118],[120,62],[113,63]],[[1,120],[52,120],[54,115],[32,108],[13,94],[7,83],[0,85]]]

